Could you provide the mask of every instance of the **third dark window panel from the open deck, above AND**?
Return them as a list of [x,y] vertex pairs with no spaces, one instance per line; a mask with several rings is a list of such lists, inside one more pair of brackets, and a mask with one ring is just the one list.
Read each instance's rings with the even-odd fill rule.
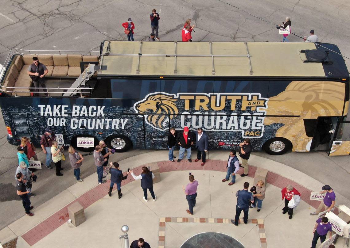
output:
[[216,80],[214,93],[260,93],[266,97],[268,81],[226,81]]

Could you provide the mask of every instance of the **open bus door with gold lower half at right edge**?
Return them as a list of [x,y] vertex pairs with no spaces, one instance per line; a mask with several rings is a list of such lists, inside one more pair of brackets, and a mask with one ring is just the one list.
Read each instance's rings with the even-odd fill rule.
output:
[[339,121],[335,129],[328,156],[350,154],[350,121]]

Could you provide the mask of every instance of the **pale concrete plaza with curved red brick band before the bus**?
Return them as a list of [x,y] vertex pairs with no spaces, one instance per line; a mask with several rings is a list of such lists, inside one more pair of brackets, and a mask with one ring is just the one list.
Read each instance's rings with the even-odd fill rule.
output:
[[[135,174],[146,163],[158,163],[161,182],[154,184],[156,202],[150,196],[148,203],[144,202],[140,182],[134,181],[131,176],[123,181],[121,199],[118,199],[116,191],[109,197],[109,182],[98,185],[97,176],[93,174],[84,178],[83,183],[72,185],[34,208],[34,217],[23,216],[1,230],[0,242],[3,244],[13,240],[17,242],[17,247],[120,247],[120,227],[128,225],[131,241],[142,237],[151,247],[180,247],[194,234],[206,231],[228,234],[246,248],[310,246],[316,218],[309,216],[309,213],[314,211],[313,206],[317,206],[318,202],[308,198],[310,191],[320,191],[322,184],[281,163],[251,155],[250,176],[254,175],[256,167],[269,170],[266,198],[260,212],[250,209],[247,225],[236,227],[230,223],[235,215],[235,193],[243,188],[245,181],[252,185],[253,178],[237,176],[236,184],[232,186],[221,182],[226,174],[227,156],[227,151],[210,152],[210,160],[204,167],[200,166],[200,162],[167,161],[164,151],[119,161],[123,171],[136,168]],[[188,171],[195,175],[200,184],[194,216],[186,213],[188,205],[181,188],[188,183]],[[304,199],[292,220],[281,213],[283,202],[280,190],[289,183],[301,192]],[[79,201],[85,208],[86,221],[78,227],[66,224],[67,205],[74,201]],[[350,205],[348,199],[338,194],[336,201],[337,205]],[[341,238],[337,248],[342,244]]]

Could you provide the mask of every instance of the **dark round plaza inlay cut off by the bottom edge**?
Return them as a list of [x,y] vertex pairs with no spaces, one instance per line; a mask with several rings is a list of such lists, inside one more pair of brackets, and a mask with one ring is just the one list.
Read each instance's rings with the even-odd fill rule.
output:
[[180,248],[244,248],[244,246],[229,235],[206,232],[192,236]]

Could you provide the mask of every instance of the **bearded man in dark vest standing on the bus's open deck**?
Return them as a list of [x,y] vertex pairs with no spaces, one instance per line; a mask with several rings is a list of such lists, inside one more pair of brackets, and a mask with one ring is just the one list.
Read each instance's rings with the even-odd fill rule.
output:
[[[35,92],[39,92],[39,83],[41,85],[41,88],[46,88],[44,77],[48,72],[49,70],[46,68],[46,66],[40,63],[37,57],[33,57],[33,63],[28,67],[27,73],[29,74],[31,80],[33,80]],[[38,95],[39,93],[34,94],[34,96],[38,96]],[[49,96],[49,95],[45,93],[45,96]]]

